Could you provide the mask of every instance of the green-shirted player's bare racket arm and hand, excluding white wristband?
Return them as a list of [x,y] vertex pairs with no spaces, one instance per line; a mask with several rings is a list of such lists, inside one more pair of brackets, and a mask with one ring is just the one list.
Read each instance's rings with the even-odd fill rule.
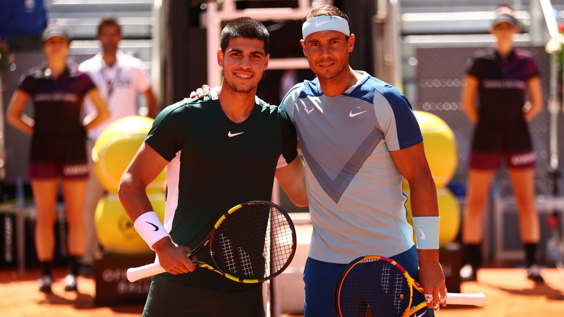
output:
[[[124,175],[121,176],[117,195],[133,222],[143,213],[153,211],[146,193],[147,185],[157,178],[166,164],[168,164],[166,159],[143,142]],[[190,258],[186,256],[190,248],[173,243],[168,236],[153,244],[153,249],[158,255],[161,266],[169,273],[187,273],[195,269]]]

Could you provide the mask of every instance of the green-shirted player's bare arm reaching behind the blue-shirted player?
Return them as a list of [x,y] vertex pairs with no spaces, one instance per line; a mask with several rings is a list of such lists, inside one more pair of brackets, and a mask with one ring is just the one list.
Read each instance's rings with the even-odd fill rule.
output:
[[276,168],[275,176],[296,206],[306,207],[309,205],[303,162],[299,155],[287,166]]

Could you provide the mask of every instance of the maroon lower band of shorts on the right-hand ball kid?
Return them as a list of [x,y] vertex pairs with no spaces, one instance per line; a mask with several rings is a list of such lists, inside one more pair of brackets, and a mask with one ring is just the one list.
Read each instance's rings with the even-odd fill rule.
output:
[[519,152],[479,152],[472,150],[470,153],[470,168],[476,169],[498,169],[501,166],[501,158],[505,157],[508,168],[532,168],[535,167],[536,155],[534,150]]

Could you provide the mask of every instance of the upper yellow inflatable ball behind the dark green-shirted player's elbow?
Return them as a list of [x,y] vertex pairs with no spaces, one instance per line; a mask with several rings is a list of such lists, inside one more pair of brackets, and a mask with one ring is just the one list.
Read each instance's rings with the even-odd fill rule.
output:
[[[143,144],[153,119],[132,115],[118,119],[96,140],[92,149],[94,172],[108,193],[117,193],[121,176]],[[164,170],[147,186],[147,193],[161,193],[166,176]]]

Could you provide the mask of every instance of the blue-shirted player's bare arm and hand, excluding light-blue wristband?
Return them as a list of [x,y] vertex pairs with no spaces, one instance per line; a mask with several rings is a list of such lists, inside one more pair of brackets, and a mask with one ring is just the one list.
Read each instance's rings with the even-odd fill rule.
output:
[[[400,173],[409,182],[413,217],[439,216],[437,188],[425,157],[423,142],[409,148],[390,151]],[[419,282],[426,294],[433,294],[434,303],[444,296],[444,273],[439,264],[438,249],[418,249]],[[433,305],[428,303],[431,308]]]

